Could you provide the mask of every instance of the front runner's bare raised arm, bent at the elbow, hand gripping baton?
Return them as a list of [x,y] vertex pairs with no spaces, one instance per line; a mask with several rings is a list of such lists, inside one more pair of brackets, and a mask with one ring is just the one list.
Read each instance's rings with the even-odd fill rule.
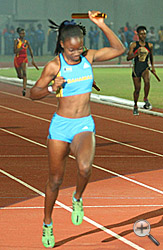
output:
[[92,55],[93,62],[100,62],[113,59],[117,56],[120,56],[125,52],[125,47],[115,35],[115,33],[105,24],[104,18],[96,18],[96,14],[100,13],[99,11],[89,11],[90,20],[95,23],[107,37],[110,47],[104,47],[99,50],[90,50],[89,54]]

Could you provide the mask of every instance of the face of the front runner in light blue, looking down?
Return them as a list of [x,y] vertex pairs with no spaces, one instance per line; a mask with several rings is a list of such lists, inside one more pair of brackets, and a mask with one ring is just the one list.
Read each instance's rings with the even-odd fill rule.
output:
[[64,49],[64,55],[71,62],[80,61],[80,55],[83,52],[83,39],[80,37],[71,37],[61,41],[61,46]]

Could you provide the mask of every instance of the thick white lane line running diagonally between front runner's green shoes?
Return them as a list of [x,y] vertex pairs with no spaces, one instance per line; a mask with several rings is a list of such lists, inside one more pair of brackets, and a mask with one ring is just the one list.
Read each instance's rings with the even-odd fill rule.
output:
[[[39,194],[39,195],[45,197],[45,194],[44,194],[43,192],[41,192],[41,191],[39,191],[38,189],[32,187],[31,185],[27,184],[26,182],[24,182],[24,181],[22,181],[22,180],[16,178],[15,176],[13,176],[13,175],[7,173],[6,171],[3,171],[2,169],[0,169],[0,172],[1,172],[2,174],[4,174],[4,175],[8,176],[10,179],[12,179],[12,180],[14,180],[14,181],[16,181],[16,182],[22,184],[23,186],[27,187],[28,189],[32,190],[33,192],[35,192],[35,193],[37,193],[37,194]],[[67,210],[67,211],[69,211],[69,212],[72,212],[72,208],[66,206],[66,205],[63,204],[62,202],[56,201],[56,204],[57,204],[58,206],[64,208],[65,210]],[[109,234],[109,235],[115,237],[116,239],[122,241],[123,243],[129,245],[130,247],[132,247],[132,248],[134,248],[134,249],[137,249],[137,250],[145,250],[144,248],[139,247],[138,245],[134,244],[133,242],[131,242],[131,241],[129,241],[129,240],[123,238],[122,236],[120,236],[120,235],[118,235],[118,234],[116,234],[116,233],[114,233],[112,230],[107,229],[106,227],[104,227],[103,225],[101,225],[101,224],[95,222],[95,221],[92,220],[92,219],[90,219],[90,218],[88,218],[88,217],[86,217],[86,216],[84,216],[83,219],[84,219],[85,221],[87,221],[88,223],[90,223],[91,225],[95,226],[96,228],[99,228],[100,230],[104,231],[105,233],[107,233],[107,234]]]

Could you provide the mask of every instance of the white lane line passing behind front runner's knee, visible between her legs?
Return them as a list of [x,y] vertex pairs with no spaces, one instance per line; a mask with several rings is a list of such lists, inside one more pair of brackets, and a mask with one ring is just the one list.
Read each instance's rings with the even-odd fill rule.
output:
[[[8,133],[8,134],[11,134],[11,135],[13,135],[13,136],[16,136],[16,137],[18,137],[18,138],[20,138],[20,139],[23,139],[23,140],[25,140],[25,141],[28,141],[28,142],[30,142],[30,143],[36,144],[36,145],[38,145],[38,146],[40,146],[40,147],[47,148],[46,145],[43,145],[43,144],[41,144],[41,143],[35,142],[35,141],[33,141],[33,140],[30,140],[30,139],[28,139],[28,138],[26,138],[26,137],[24,137],[24,136],[15,134],[15,133],[10,132],[10,131],[8,131],[8,130],[6,130],[6,129],[1,129],[1,128],[0,128],[0,130],[3,130],[4,132],[6,132],[6,133]],[[72,155],[69,155],[69,157],[72,158],[72,159],[75,159],[75,157],[72,156]],[[95,164],[92,164],[92,166],[93,166],[94,168],[97,168],[97,169],[101,170],[101,171],[110,173],[110,174],[115,175],[115,176],[117,176],[117,177],[119,177],[119,178],[125,179],[125,180],[130,181],[130,182],[133,182],[133,183],[135,183],[135,184],[137,184],[137,185],[139,185],[139,186],[142,186],[142,187],[145,187],[145,188],[147,188],[147,189],[150,189],[150,190],[152,190],[152,191],[154,191],[154,192],[163,194],[163,191],[161,191],[161,190],[159,190],[159,189],[157,189],[157,188],[153,188],[153,187],[148,186],[148,185],[146,185],[146,184],[144,184],[144,183],[141,183],[141,182],[139,182],[139,181],[133,180],[133,179],[131,179],[131,178],[128,178],[128,177],[126,177],[126,176],[123,176],[123,175],[121,175],[121,174],[118,174],[118,173],[116,173],[116,172],[113,172],[113,171],[111,171],[111,170],[108,170],[108,169],[105,169],[105,168],[103,168],[103,167],[97,166],[97,165],[95,165]]]

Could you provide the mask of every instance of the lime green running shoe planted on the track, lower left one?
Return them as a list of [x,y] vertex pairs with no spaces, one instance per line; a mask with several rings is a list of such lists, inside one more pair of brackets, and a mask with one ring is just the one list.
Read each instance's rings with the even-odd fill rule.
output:
[[55,245],[53,235],[53,224],[51,226],[43,225],[42,243],[46,248],[53,248]]

